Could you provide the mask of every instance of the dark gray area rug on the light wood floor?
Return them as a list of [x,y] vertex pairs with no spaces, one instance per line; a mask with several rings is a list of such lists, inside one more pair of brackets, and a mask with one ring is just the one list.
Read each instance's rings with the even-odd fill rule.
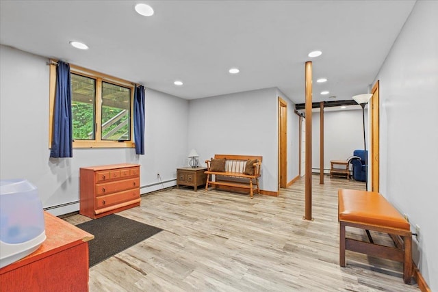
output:
[[162,231],[116,214],[81,223],[76,227],[94,235],[94,239],[88,241],[90,267]]

